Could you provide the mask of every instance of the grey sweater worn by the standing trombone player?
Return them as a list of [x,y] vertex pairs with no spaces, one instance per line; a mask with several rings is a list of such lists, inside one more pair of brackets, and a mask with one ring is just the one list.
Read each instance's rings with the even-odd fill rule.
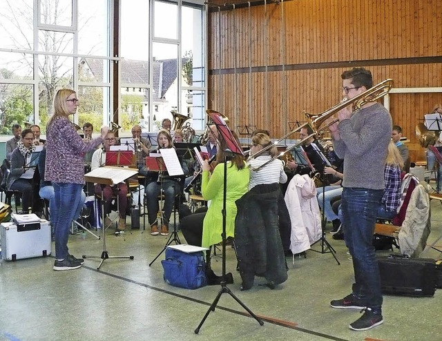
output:
[[338,124],[334,151],[344,159],[343,187],[383,189],[392,117],[381,104],[363,108]]

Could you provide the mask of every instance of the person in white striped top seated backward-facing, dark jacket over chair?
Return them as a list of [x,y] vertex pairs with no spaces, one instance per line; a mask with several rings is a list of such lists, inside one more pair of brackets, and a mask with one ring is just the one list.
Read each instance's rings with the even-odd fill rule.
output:
[[[249,159],[248,162],[249,192],[236,202],[238,213],[235,241],[242,278],[241,290],[251,289],[255,275],[265,277],[267,285],[273,289],[274,285],[287,280],[285,251],[282,246],[284,234],[280,233],[282,219],[279,217],[279,206],[285,206],[284,200],[279,200],[279,184],[287,181],[287,175],[280,159],[270,162],[278,155],[278,150],[268,135],[253,135],[251,142],[251,155],[258,156]],[[265,148],[267,149],[263,151]],[[287,224],[287,227],[290,231],[290,224]]]

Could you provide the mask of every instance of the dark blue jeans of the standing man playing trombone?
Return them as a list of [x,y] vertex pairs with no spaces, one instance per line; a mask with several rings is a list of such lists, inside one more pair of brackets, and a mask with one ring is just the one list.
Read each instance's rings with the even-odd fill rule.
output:
[[345,244],[353,258],[353,294],[361,304],[381,313],[381,278],[373,246],[376,213],[383,190],[344,188],[340,209],[343,213]]

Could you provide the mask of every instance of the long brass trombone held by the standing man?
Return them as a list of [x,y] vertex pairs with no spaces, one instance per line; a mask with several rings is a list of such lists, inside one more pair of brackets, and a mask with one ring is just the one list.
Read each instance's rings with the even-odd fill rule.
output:
[[377,84],[376,86],[373,86],[372,88],[369,88],[368,90],[362,92],[361,94],[353,97],[352,99],[345,99],[344,101],[340,101],[338,104],[335,104],[332,106],[332,108],[329,108],[323,113],[319,113],[317,115],[312,115],[309,113],[304,112],[305,116],[307,117],[307,122],[305,124],[302,124],[295,128],[294,130],[291,130],[289,133],[278,139],[276,142],[273,142],[273,144],[270,144],[269,146],[262,148],[257,153],[250,155],[251,159],[254,159],[255,157],[258,157],[259,155],[262,155],[262,153],[265,153],[266,151],[270,150],[273,146],[276,146],[284,139],[287,139],[291,134],[296,133],[297,131],[301,130],[302,128],[305,128],[307,126],[310,126],[311,130],[313,130],[313,134],[310,134],[309,136],[305,137],[304,139],[301,139],[299,142],[294,144],[293,146],[289,146],[284,152],[276,155],[275,157],[272,157],[271,159],[267,160],[264,164],[261,164],[258,167],[251,167],[251,171],[258,171],[260,168],[266,166],[270,162],[272,162],[274,159],[277,159],[278,157],[282,157],[285,155],[285,153],[289,153],[289,151],[293,150],[294,148],[302,145],[304,142],[306,142],[310,137],[314,137],[315,135],[320,135],[321,132],[325,130],[325,128],[328,128],[329,126],[332,126],[335,124],[338,119],[334,119],[332,122],[326,124],[322,128],[320,127],[329,117],[332,117],[335,115],[339,110],[352,105],[353,111],[360,110],[365,104],[376,101],[377,99],[380,99],[381,97],[384,97],[387,95],[388,92],[390,92],[390,89],[393,86],[393,80],[392,79],[385,79],[385,81],[381,81],[381,83]]

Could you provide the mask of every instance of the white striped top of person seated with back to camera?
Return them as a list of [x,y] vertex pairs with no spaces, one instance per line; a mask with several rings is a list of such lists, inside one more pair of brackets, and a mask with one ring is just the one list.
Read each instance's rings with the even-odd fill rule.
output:
[[[256,168],[271,159],[270,155],[261,155],[256,157],[256,159],[250,159],[248,164],[252,168]],[[269,164],[258,169],[258,171],[250,170],[250,182],[249,191],[256,185],[261,184],[275,184],[280,182],[284,184],[287,182],[287,174],[284,172],[284,164],[280,159],[274,159]]]

